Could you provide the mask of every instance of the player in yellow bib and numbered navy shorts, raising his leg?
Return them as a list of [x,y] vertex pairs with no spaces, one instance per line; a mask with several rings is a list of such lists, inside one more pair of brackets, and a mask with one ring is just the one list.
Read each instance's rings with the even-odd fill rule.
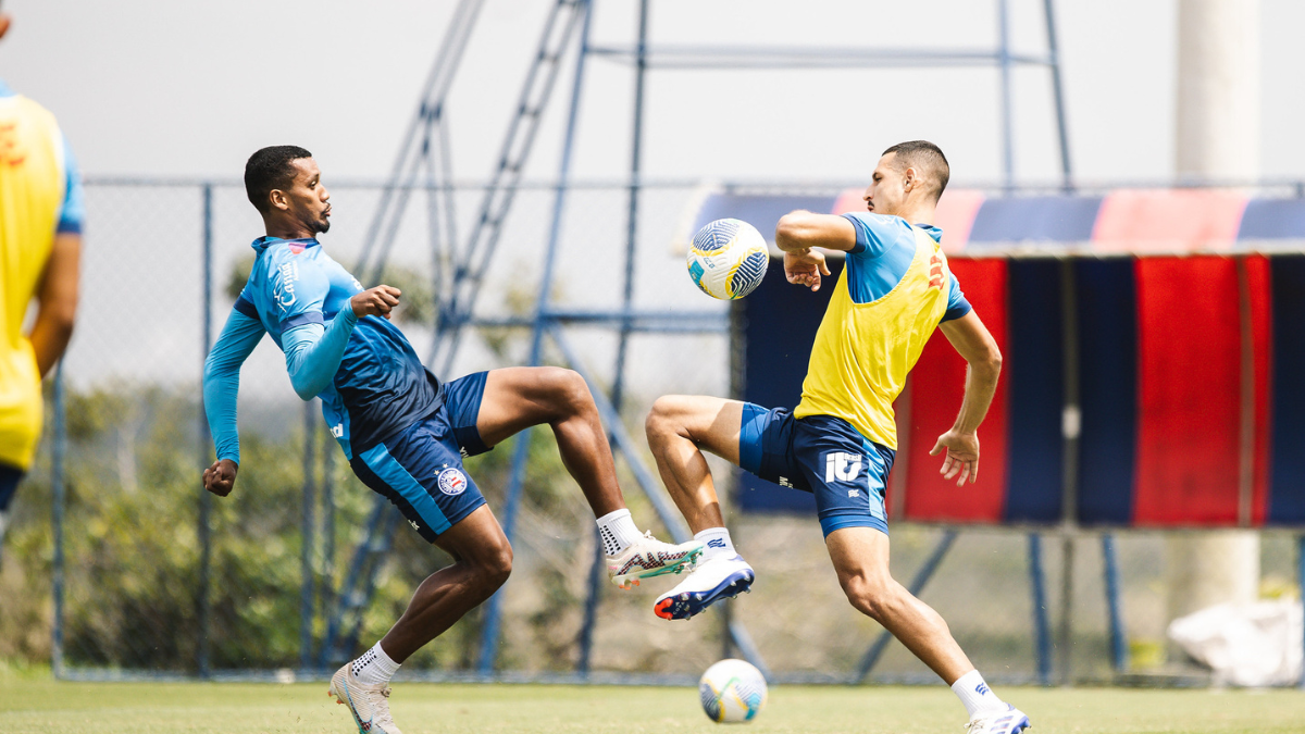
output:
[[1028,717],[1001,701],[970,663],[946,622],[889,575],[883,481],[897,449],[893,401],[941,328],[968,362],[966,394],[933,453],[964,485],[979,471],[976,430],[1001,372],[1001,353],[960,293],[933,226],[947,159],[932,142],[883,152],[865,189],[867,212],[793,212],[775,229],[788,282],[818,290],[823,249],[846,252],[801,402],[792,411],[705,396],[666,396],[647,418],[649,445],[680,512],[706,545],[703,560],[654,610],[688,619],[752,585],[720,516],[709,451],[786,487],[813,492],[825,545],[848,601],[893,632],[957,692],[971,734],[1014,734]]

